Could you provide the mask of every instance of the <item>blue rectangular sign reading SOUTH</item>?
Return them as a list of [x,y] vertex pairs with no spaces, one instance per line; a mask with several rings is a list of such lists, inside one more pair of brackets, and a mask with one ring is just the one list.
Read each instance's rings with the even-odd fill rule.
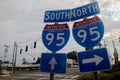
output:
[[44,22],[69,22],[69,21],[70,21],[70,9],[45,12]]

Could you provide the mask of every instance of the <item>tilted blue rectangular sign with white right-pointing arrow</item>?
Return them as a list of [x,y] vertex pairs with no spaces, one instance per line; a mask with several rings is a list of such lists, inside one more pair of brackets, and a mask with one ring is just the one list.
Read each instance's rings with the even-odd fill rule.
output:
[[80,72],[94,72],[110,69],[110,61],[106,48],[79,52],[78,62]]

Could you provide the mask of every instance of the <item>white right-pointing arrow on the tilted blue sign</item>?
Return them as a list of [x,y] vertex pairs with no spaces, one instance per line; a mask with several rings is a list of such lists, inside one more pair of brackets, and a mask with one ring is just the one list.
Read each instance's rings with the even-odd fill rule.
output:
[[95,62],[96,63],[96,66],[102,62],[103,58],[98,56],[98,55],[94,55],[94,58],[89,58],[89,59],[84,59],[82,60],[82,63],[83,64],[86,64],[86,63],[93,63]]

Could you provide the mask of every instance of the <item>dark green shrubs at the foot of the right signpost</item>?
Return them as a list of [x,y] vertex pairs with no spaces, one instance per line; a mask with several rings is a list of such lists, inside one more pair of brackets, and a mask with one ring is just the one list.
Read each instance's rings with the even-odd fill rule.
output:
[[[94,80],[94,75],[85,74],[77,80]],[[120,63],[113,65],[110,71],[100,73],[99,80],[120,80]]]

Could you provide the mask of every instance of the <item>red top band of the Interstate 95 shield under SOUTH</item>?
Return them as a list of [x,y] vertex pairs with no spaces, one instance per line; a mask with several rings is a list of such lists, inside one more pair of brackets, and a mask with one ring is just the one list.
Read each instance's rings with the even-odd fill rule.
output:
[[58,29],[68,29],[67,24],[47,24],[44,30],[58,30]]

